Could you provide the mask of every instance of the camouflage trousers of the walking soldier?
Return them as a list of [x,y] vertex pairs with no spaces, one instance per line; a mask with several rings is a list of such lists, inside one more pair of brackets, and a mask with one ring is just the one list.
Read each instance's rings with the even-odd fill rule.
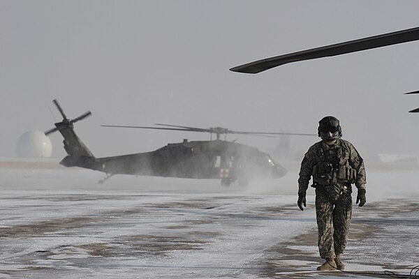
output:
[[318,251],[323,259],[333,259],[344,252],[352,218],[351,193],[331,200],[324,188],[316,188]]

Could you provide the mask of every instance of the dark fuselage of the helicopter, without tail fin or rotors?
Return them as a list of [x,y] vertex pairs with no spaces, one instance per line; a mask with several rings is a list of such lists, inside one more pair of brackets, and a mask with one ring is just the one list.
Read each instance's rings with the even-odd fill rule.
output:
[[255,147],[223,140],[168,144],[156,151],[106,158],[74,158],[61,161],[68,167],[77,165],[107,174],[221,179],[222,183],[239,180],[279,178],[286,169],[267,153]]

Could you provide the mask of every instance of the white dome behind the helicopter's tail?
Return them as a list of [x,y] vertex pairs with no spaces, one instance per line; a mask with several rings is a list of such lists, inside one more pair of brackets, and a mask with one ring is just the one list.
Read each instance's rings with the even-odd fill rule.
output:
[[16,152],[19,157],[50,158],[51,140],[41,131],[29,131],[17,139]]

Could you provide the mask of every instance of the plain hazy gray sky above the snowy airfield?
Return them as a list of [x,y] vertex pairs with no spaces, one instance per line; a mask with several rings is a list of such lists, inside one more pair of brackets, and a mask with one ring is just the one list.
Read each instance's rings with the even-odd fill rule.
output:
[[[75,130],[97,157],[209,135],[103,128],[170,123],[316,133],[335,115],[366,156],[419,155],[419,42],[291,63],[258,59],[419,27],[419,1],[0,1],[0,156],[17,138],[91,110]],[[51,135],[53,157],[62,137]],[[279,139],[230,135],[273,149]],[[296,138],[303,152],[318,137]],[[280,159],[280,158],[279,158]]]

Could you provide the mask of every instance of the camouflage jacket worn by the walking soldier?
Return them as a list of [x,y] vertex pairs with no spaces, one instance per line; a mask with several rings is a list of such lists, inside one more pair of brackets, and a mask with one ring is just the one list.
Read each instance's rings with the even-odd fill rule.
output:
[[[298,193],[306,193],[311,176],[313,176],[315,183],[325,184],[316,175],[320,172],[318,169],[321,169],[323,165],[326,167],[330,165],[330,169],[328,169],[330,179],[326,180],[328,181],[327,183],[345,183],[349,185],[355,183],[358,189],[365,190],[364,161],[351,142],[338,139],[332,145],[326,144],[323,140],[316,142],[305,153],[301,163],[300,178],[298,179]],[[336,174],[332,174],[333,172],[336,172]],[[343,179],[335,177],[343,177]]]

